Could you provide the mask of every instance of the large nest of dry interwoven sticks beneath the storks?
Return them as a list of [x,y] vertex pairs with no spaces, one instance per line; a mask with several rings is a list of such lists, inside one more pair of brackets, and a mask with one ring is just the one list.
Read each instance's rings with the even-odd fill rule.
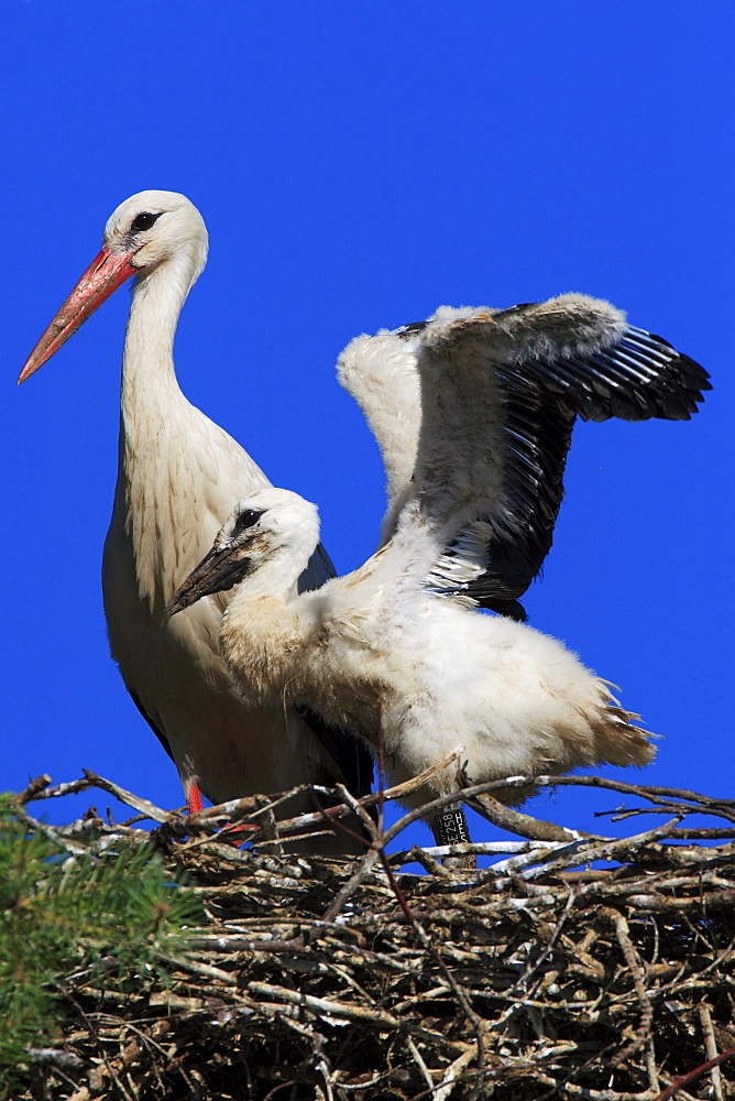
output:
[[[735,803],[596,777],[535,783],[622,792],[614,817],[658,825],[622,839],[550,827],[549,840],[548,824],[518,815],[524,839],[454,848],[495,859],[469,873],[437,848],[386,855],[415,816],[384,832],[365,808],[395,789],[360,804],[342,791],[326,815],[362,817],[371,840],[337,860],[287,854],[325,813],[276,824],[275,804],[255,798],[191,819],[89,773],[56,788],[42,778],[19,806],[97,786],[158,822],[154,842],[172,875],[186,870],[207,923],[157,988],[69,977],[64,1038],[32,1053],[22,1097],[735,1097]],[[696,828],[694,815],[720,821]],[[217,832],[229,819],[250,848]],[[150,838],[94,814],[54,833],[83,848]],[[416,860],[425,874],[402,871]]]

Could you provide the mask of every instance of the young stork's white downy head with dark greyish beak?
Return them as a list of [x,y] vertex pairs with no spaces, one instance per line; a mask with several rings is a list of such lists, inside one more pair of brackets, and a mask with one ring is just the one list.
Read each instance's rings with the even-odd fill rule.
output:
[[265,567],[266,590],[288,590],[318,543],[319,513],[315,504],[287,489],[259,489],[235,505],[211,550],[179,586],[166,610],[174,615],[201,597],[231,589]]

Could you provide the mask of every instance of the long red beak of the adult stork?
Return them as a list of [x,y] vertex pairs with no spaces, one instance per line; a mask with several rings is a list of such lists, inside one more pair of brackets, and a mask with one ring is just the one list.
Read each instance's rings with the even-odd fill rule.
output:
[[63,344],[73,336],[88,317],[139,269],[130,262],[132,252],[112,252],[103,248],[92,260],[56,317],[29,356],[18,377],[18,384],[25,382],[34,371],[51,359]]

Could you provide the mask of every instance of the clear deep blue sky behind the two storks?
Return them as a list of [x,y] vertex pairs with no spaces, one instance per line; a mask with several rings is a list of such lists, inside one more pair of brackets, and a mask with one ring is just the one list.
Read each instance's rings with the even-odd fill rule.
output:
[[[333,375],[355,334],[583,291],[711,371],[691,423],[578,428],[526,606],[663,735],[641,782],[733,796],[734,47],[735,8],[710,0],[7,0],[2,787],[85,766],[182,802],[100,597],[128,295],[14,385],[108,215],[161,187],[210,232],[180,384],[320,504],[341,571],[374,548],[383,506]],[[48,813],[89,802],[108,800]],[[529,809],[590,829],[618,802],[566,789]]]

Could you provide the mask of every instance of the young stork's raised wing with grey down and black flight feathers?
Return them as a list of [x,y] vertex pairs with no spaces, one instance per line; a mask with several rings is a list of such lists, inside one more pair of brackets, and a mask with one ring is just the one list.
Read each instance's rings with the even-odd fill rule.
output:
[[406,339],[420,427],[397,532],[434,533],[428,587],[501,611],[551,546],[575,417],[688,419],[710,389],[689,357],[579,294],[435,316]]

